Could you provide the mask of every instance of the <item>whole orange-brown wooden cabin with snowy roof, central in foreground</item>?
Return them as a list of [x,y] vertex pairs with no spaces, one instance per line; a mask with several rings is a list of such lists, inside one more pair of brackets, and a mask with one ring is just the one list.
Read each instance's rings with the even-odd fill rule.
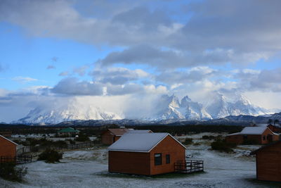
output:
[[168,133],[127,133],[108,147],[108,171],[136,175],[175,172],[185,146]]

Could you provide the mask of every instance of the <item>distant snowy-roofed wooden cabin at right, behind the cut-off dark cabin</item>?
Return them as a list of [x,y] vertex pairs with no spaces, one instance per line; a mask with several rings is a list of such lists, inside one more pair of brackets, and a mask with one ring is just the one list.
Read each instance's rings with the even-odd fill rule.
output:
[[226,142],[235,144],[268,144],[279,140],[279,134],[268,127],[244,127],[241,132],[228,134]]

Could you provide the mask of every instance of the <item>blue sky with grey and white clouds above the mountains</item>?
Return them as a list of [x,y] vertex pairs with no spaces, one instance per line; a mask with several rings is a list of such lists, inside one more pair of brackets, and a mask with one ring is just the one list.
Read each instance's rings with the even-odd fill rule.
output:
[[143,106],[137,113],[163,94],[200,103],[242,94],[280,109],[280,6],[1,0],[0,122],[67,99],[107,111]]

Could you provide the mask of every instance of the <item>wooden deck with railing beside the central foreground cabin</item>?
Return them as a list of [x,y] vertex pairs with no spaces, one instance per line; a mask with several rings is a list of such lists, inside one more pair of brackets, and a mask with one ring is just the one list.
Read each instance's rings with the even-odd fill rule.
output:
[[185,162],[174,163],[176,173],[196,173],[204,171],[204,161],[186,160]]

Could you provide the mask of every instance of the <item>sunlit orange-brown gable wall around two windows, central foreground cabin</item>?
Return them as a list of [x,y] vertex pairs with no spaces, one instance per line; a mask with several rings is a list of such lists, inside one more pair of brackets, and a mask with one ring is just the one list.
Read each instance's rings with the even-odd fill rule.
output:
[[[155,165],[155,153],[162,154],[162,165]],[[169,164],[166,164],[166,154],[170,155]],[[168,136],[150,151],[150,175],[173,173],[177,161],[185,161],[185,148]]]

